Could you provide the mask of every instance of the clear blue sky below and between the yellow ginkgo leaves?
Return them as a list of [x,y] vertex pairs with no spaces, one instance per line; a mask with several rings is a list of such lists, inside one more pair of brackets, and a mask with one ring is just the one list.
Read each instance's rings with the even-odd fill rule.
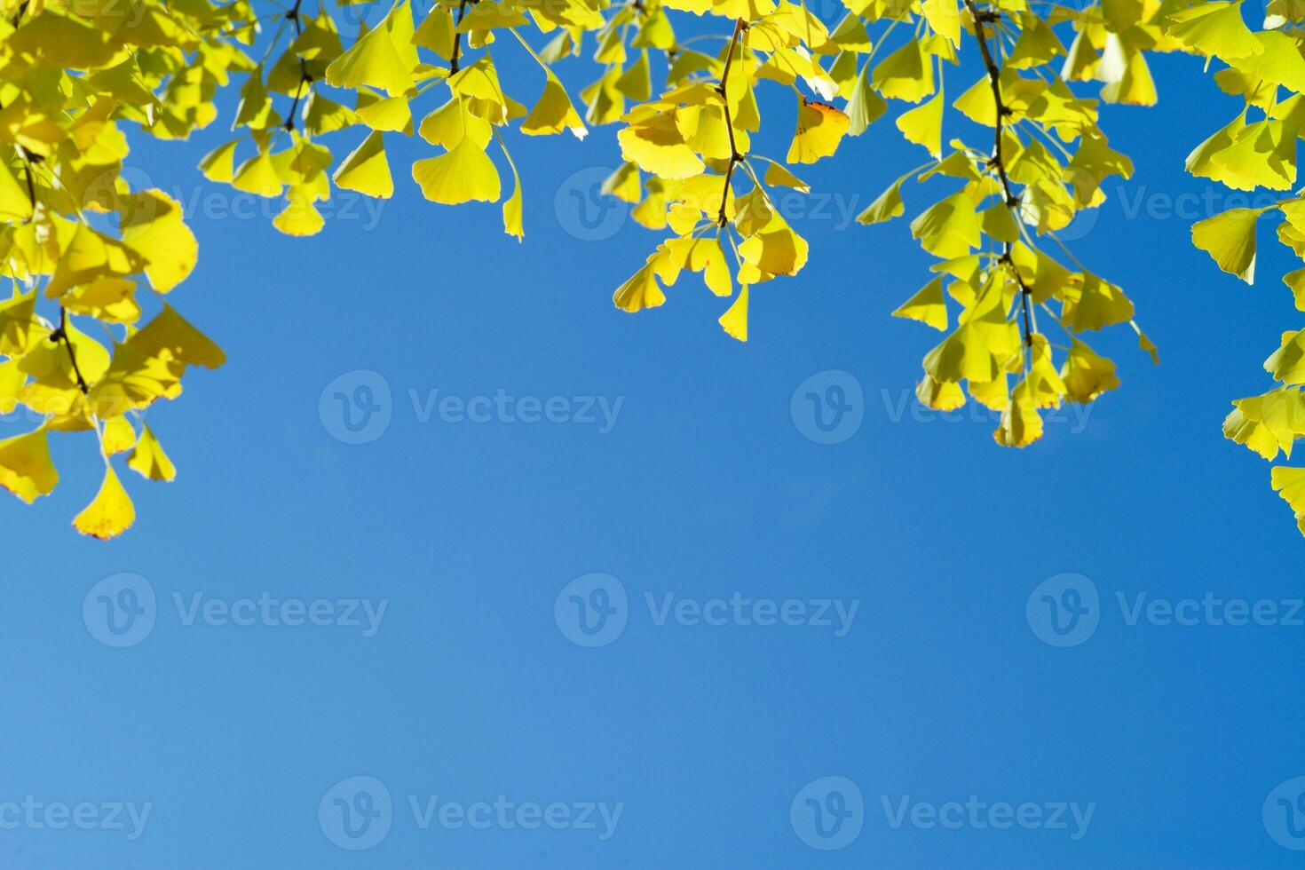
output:
[[[515,70],[508,87],[532,100],[538,70],[500,53]],[[949,68],[949,93],[977,78],[972,61]],[[806,217],[790,215],[810,262],[753,290],[746,344],[720,331],[724,304],[696,278],[658,310],[612,307],[660,237],[619,209],[581,220],[574,194],[617,159],[612,128],[582,143],[509,136],[523,244],[502,235],[497,206],[422,200],[407,166],[433,150],[419,140],[389,137],[398,193],[377,219],[346,194],[354,217],[309,240],[232,217],[232,200],[252,201],[198,177],[222,123],[188,145],[137,140],[132,164],[201,203],[189,209],[200,265],[172,301],[230,361],[149,412],[179,477],[124,477],[138,520],[123,539],[68,524],[99,480],[90,437],[55,440],[54,496],[31,509],[0,501],[17,569],[0,634],[0,803],[102,813],[129,801],[150,815],[136,839],[129,822],[51,830],[38,817],[0,831],[0,865],[1300,866],[1287,847],[1305,837],[1270,793],[1287,783],[1291,803],[1289,781],[1305,775],[1301,614],[1295,626],[1131,616],[1138,596],[1302,596],[1302,541],[1268,464],[1220,433],[1231,399],[1267,389],[1259,364],[1279,333],[1300,325],[1278,280],[1291,260],[1266,227],[1248,288],[1191,247],[1191,219],[1211,209],[1181,218],[1167,203],[1210,189],[1212,211],[1237,205],[1182,160],[1240,107],[1197,77],[1198,60],[1154,68],[1160,106],[1104,113],[1134,181],[1120,196],[1112,180],[1095,224],[1067,235],[1128,290],[1163,363],[1126,327],[1108,331],[1098,346],[1122,389],[1086,420],[1062,412],[1026,450],[996,446],[987,413],[912,412],[937,334],[889,312],[930,258],[904,220],[851,220],[924,159],[891,116],[803,172],[817,193]],[[585,63],[561,72],[573,87],[591,78]],[[793,106],[779,86],[762,93],[754,150],[782,157]],[[987,141],[970,127],[947,134]],[[929,202],[915,190],[907,201],[910,214]],[[818,443],[791,400],[831,369],[861,387],[860,427]],[[376,376],[335,382],[356,370]],[[346,443],[334,394],[352,403],[376,378],[390,399],[373,389],[373,425],[388,424]],[[425,415],[435,390],[564,397],[566,413],[582,410],[574,397],[620,406],[606,432],[600,412],[446,421]],[[112,648],[99,595],[129,599],[91,590],[121,573],[144,578],[157,607],[147,634]],[[594,573],[615,578],[626,605],[604,580],[616,613],[598,639],[609,643],[586,647],[572,640],[590,635],[568,621],[570,596],[603,600],[564,587]],[[1035,592],[1066,573],[1086,580]],[[736,593],[800,600],[808,617],[820,600],[857,609],[840,637],[833,607],[830,626],[660,616],[667,595],[692,607]],[[1095,630],[1065,635],[1069,647],[1044,640],[1065,640],[1040,616],[1044,593],[1082,593]],[[264,595],[386,604],[364,637],[365,617],[192,620],[196,595],[213,607]],[[347,604],[324,607],[347,616]],[[384,797],[372,784],[359,802],[358,780],[337,785],[355,776],[375,777],[392,809],[350,839],[335,798],[356,833],[356,813],[381,813]],[[823,777],[843,779],[808,788]],[[410,798],[424,810],[435,796],[423,827]],[[971,796],[980,824],[1002,802],[1036,805],[1043,822],[1057,803],[1092,814],[1086,830],[1070,810],[1064,828],[980,828],[971,810],[944,809]],[[821,830],[808,798],[826,814]],[[510,802],[514,827],[499,810],[475,815],[478,801]],[[565,827],[515,824],[531,802],[565,805],[553,810]],[[620,806],[611,836],[598,811],[594,830],[574,824],[586,802]],[[457,827],[457,809],[441,823],[445,803],[488,828]],[[928,826],[930,806],[959,830]],[[840,828],[829,815],[839,809]]]

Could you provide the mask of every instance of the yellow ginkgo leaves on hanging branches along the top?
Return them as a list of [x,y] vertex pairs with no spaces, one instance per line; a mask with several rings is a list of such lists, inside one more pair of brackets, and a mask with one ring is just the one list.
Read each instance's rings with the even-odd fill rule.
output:
[[[326,0],[3,0],[0,262],[12,292],[0,303],[0,412],[22,407],[35,425],[0,441],[0,485],[26,502],[50,493],[48,438],[94,430],[104,479],[74,526],[112,537],[134,519],[115,457],[149,480],[174,479],[142,412],[223,353],[166,301],[198,249],[176,200],[124,176],[127,134],[184,140],[218,120],[228,87],[239,89],[234,137],[200,170],[281,202],[273,224],[291,236],[322,228],[318,203],[333,188],[392,197],[388,137],[415,133],[431,147],[408,172],[425,198],[501,202],[505,232],[521,237],[505,133],[613,125],[624,164],[603,192],[664,236],[616,305],[655,308],[697,274],[728,300],[720,326],[739,340],[749,291],[808,260],[774,189],[809,193],[804,164],[837,159],[890,100],[906,103],[895,124],[923,163],[859,220],[903,217],[903,188],[925,190],[932,202],[912,210],[910,233],[937,262],[893,312],[942,333],[916,395],[932,408],[1000,411],[1004,446],[1037,441],[1040,411],[1120,386],[1092,333],[1129,327],[1158,361],[1124,290],[1057,237],[1101,205],[1107,179],[1133,172],[1100,127],[1101,104],[1156,102],[1148,53],[1203,56],[1241,103],[1223,129],[1195,133],[1207,138],[1186,170],[1283,192],[1201,220],[1193,243],[1249,283],[1257,227],[1274,218],[1279,241],[1305,260],[1305,198],[1291,192],[1305,134],[1298,0],[1270,0],[1259,30],[1223,0],[840,3],[830,27],[790,0],[437,0],[420,13],[399,0],[342,35],[339,22],[360,17]],[[719,34],[677,39],[685,16],[719,20]],[[534,82],[500,80],[495,59],[509,51],[538,61]],[[945,94],[962,51],[977,52],[983,72]],[[556,69],[582,55],[603,72],[570,90]],[[762,87],[793,94],[782,159],[752,149]],[[538,97],[527,106],[509,90]],[[957,125],[966,138],[945,141]],[[1305,269],[1283,280],[1305,310]],[[1278,383],[1233,402],[1224,433],[1265,459],[1289,458],[1305,434],[1305,331],[1284,333],[1265,369]],[[1305,533],[1305,468],[1274,467],[1271,483]]]

